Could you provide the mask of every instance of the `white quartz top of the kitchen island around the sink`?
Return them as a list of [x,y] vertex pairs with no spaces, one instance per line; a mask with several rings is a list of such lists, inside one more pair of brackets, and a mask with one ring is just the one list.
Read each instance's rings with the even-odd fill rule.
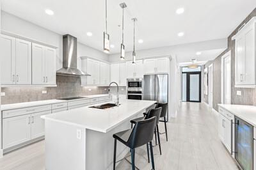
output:
[[106,133],[155,103],[150,100],[124,100],[120,106],[109,109],[80,107],[47,114],[42,118]]

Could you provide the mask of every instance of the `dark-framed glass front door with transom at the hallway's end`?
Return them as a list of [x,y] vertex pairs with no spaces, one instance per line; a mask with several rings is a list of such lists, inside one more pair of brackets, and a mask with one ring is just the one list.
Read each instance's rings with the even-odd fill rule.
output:
[[182,102],[201,102],[201,66],[182,67]]

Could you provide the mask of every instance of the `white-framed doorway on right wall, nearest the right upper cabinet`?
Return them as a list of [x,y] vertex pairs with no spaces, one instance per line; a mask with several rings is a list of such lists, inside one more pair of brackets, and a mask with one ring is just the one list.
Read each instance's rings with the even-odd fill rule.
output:
[[231,52],[221,58],[221,104],[231,104]]

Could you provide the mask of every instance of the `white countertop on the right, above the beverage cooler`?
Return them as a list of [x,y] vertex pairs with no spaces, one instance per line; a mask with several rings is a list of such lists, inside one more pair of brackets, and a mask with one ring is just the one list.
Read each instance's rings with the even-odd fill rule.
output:
[[256,127],[256,107],[253,105],[218,104],[223,109]]

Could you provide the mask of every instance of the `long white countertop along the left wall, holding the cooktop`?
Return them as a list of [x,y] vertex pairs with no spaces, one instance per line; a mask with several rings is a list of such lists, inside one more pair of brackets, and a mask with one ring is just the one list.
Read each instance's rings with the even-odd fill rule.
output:
[[52,99],[52,100],[40,100],[35,102],[23,102],[23,103],[17,103],[17,104],[4,104],[1,105],[0,111],[6,111],[6,110],[12,110],[12,109],[20,109],[24,107],[34,107],[38,105],[47,105],[47,104],[58,104],[63,102],[71,102],[76,100],[84,100],[89,98],[99,98],[99,97],[107,97],[108,94],[102,94],[102,95],[89,95],[89,96],[83,96],[85,98],[79,98],[75,100],[58,100],[58,99]]

